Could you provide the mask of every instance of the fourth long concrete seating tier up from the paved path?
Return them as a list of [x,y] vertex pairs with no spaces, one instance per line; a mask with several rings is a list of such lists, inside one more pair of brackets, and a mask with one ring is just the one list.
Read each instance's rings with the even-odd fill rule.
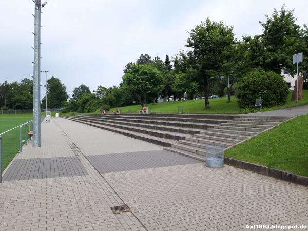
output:
[[[90,115],[85,116],[85,115],[75,115],[73,118],[82,118],[82,117],[87,117],[88,119],[92,119]],[[93,118],[97,119],[97,118]],[[145,123],[145,124],[155,124],[155,125],[162,125],[162,126],[174,126],[174,127],[185,127],[185,128],[193,128],[193,129],[208,129],[208,128],[214,128],[214,124],[204,124],[204,123],[188,123],[188,122],[177,122],[177,121],[160,121],[160,120],[139,120],[139,119],[123,119],[122,116],[118,117],[108,117],[108,116],[102,116],[97,120],[117,120],[117,121],[126,121],[126,122],[131,122],[131,123]]]

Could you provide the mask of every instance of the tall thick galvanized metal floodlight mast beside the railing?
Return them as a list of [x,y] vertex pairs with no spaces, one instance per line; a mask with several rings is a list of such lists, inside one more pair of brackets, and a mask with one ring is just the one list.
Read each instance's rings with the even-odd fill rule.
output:
[[41,147],[41,0],[35,0],[33,62],[33,147]]

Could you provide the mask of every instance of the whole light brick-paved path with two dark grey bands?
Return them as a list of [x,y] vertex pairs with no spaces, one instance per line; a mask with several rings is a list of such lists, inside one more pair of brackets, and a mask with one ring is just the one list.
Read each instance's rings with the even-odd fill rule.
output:
[[[63,118],[0,185],[0,230],[249,230],[308,225],[308,188],[210,169],[162,147]],[[131,212],[113,214],[127,204]],[[266,230],[266,229],[263,229]]]

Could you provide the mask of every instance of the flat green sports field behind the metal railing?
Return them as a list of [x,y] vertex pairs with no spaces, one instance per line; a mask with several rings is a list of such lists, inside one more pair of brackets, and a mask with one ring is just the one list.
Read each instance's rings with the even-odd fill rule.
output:
[[[30,120],[32,120],[32,114],[0,114],[0,134]],[[22,129],[22,136],[22,139],[25,140],[25,126]],[[13,129],[2,135],[2,171],[18,152],[19,142],[20,128]]]

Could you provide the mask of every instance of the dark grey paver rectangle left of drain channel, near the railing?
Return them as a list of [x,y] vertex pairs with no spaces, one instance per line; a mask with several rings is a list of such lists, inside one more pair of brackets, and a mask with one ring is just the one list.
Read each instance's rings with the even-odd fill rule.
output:
[[77,157],[15,159],[3,176],[4,181],[32,180],[88,175]]

